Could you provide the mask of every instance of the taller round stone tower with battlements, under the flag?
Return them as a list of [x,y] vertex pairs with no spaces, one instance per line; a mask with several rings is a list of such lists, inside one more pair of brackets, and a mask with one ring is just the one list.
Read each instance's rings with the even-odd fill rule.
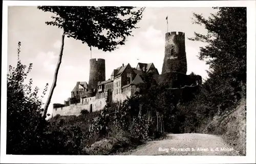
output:
[[165,34],[165,51],[162,73],[177,71],[187,73],[185,51],[185,33],[170,32]]

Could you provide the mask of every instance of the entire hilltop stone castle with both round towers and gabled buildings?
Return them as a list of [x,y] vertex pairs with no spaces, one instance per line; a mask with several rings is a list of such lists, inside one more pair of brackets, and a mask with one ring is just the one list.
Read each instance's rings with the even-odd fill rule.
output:
[[71,91],[71,99],[65,104],[53,104],[53,117],[60,115],[80,115],[81,110],[94,112],[101,110],[107,102],[119,102],[139,94],[138,84],[145,83],[143,74],[151,73],[158,83],[167,83],[170,88],[195,86],[202,83],[199,75],[186,75],[187,61],[185,34],[171,32],[165,34],[165,55],[162,74],[153,63],[138,63],[136,68],[122,64],[113,70],[111,78],[105,80],[105,60],[90,60],[89,83],[78,81]]

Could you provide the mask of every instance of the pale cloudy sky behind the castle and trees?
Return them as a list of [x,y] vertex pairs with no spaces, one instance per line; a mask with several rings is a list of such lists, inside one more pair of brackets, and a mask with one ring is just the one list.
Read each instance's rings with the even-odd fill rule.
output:
[[[215,13],[212,8],[146,8],[142,20],[136,25],[139,29],[132,32],[125,45],[112,52],[103,52],[92,47],[92,58],[105,59],[106,79],[113,69],[128,63],[136,67],[138,62],[154,63],[159,73],[162,72],[164,59],[164,42],[166,33],[166,16],[168,15],[168,32],[184,32],[187,57],[187,74],[194,72],[207,77],[208,66],[198,59],[201,46],[205,43],[189,41],[194,32],[206,34],[203,26],[193,24],[193,12],[204,17]],[[17,44],[22,42],[20,60],[23,64],[33,64],[29,78],[33,86],[42,93],[46,84],[48,92],[42,99],[46,102],[53,82],[55,67],[61,44],[62,29],[46,25],[53,14],[43,12],[35,6],[8,7],[8,66],[16,66]],[[55,87],[48,113],[51,114],[53,103],[63,103],[71,96],[77,81],[89,80],[90,47],[78,40],[65,38],[62,63],[60,65],[57,86]]]

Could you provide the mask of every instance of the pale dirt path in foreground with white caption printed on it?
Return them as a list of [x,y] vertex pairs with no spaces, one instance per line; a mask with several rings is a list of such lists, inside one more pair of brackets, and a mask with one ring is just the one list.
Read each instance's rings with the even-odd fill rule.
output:
[[[211,151],[212,150],[212,151]],[[119,155],[239,155],[221,136],[198,133],[168,134]]]

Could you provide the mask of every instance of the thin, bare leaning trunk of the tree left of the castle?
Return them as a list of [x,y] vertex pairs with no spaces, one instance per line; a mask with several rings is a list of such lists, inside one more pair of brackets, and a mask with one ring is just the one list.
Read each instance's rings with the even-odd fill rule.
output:
[[58,72],[59,72],[59,66],[61,64],[61,59],[62,59],[62,54],[63,54],[64,38],[65,38],[65,32],[62,35],[61,48],[60,48],[60,52],[59,52],[59,59],[58,59],[58,63],[57,63],[57,66],[56,66],[56,69],[55,69],[55,72],[54,72],[52,87],[51,87],[48,99],[46,101],[46,104],[45,104],[44,114],[42,116],[44,119],[46,119],[47,110],[48,110],[49,104],[50,104],[51,99],[52,99],[53,91],[56,87],[57,76],[58,76]]

